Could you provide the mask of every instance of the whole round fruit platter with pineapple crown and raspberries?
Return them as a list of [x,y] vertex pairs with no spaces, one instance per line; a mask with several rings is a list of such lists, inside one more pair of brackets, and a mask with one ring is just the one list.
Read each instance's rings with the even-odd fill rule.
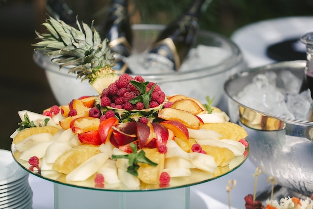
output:
[[[41,113],[19,111],[11,135],[15,160],[55,183],[108,191],[187,187],[238,168],[249,154],[246,131],[225,112],[157,83],[117,74],[107,40],[47,19],[35,50],[87,79],[98,95],[73,98]],[[75,35],[75,36],[74,36]],[[79,37],[79,38],[77,38]]]

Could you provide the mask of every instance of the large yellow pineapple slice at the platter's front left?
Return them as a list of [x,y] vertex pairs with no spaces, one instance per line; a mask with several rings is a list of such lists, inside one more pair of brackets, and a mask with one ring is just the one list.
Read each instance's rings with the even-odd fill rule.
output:
[[92,156],[100,153],[97,146],[81,145],[61,154],[53,164],[53,170],[68,174]]

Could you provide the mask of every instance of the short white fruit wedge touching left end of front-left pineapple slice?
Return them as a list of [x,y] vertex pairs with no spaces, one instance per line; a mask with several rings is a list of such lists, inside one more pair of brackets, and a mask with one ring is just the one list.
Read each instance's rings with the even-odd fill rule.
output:
[[48,146],[45,152],[45,159],[47,163],[54,163],[56,159],[63,154],[65,151],[70,150],[72,146],[62,143],[59,141],[54,141]]

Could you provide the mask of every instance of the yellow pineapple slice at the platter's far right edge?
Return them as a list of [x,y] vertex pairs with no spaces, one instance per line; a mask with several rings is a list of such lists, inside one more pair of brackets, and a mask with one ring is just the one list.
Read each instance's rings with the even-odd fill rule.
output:
[[216,131],[223,135],[219,139],[232,139],[239,141],[242,138],[247,137],[247,132],[243,127],[227,122],[227,123],[205,123],[201,128]]

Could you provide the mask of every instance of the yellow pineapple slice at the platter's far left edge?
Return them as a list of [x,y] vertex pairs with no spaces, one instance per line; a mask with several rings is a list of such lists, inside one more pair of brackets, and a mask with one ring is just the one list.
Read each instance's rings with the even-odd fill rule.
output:
[[27,138],[38,133],[50,133],[54,135],[57,131],[61,129],[60,126],[44,126],[44,127],[31,127],[26,128],[18,132],[18,134],[13,138],[13,143],[17,144]]

